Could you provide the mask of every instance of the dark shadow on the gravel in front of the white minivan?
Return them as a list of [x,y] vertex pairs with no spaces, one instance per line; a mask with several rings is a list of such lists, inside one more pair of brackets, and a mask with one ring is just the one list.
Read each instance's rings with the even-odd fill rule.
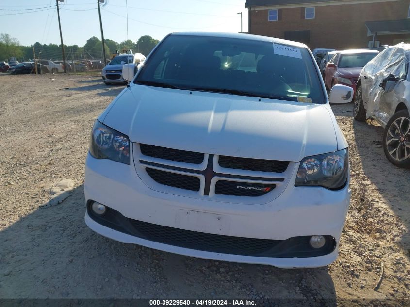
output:
[[336,307],[327,267],[282,270],[116,242],[85,225],[83,193],[79,186],[0,232],[1,298],[274,298]]

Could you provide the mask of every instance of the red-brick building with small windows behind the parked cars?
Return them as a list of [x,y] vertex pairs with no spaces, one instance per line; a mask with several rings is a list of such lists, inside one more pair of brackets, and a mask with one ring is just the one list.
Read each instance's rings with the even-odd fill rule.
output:
[[410,43],[410,0],[246,0],[249,33],[313,48]]

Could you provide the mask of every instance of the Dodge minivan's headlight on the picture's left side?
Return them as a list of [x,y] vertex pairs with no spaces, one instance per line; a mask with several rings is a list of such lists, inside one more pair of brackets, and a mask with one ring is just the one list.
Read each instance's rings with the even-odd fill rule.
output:
[[97,159],[130,164],[130,140],[97,120],[91,133],[90,154]]

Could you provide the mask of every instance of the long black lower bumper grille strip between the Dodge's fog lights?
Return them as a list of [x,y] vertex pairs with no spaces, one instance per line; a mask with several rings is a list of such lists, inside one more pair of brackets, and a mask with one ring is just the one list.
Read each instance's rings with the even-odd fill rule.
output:
[[109,207],[101,216],[93,213],[92,203],[92,200],[87,202],[88,215],[101,225],[145,240],[184,248],[255,257],[305,258],[327,255],[336,247],[335,239],[328,235],[325,235],[325,246],[314,249],[309,245],[310,236],[268,240],[216,235],[129,219]]

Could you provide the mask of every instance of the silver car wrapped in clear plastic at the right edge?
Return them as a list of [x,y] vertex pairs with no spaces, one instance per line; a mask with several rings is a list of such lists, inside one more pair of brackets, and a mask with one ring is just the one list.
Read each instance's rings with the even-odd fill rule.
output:
[[410,44],[398,44],[378,54],[363,67],[354,98],[354,118],[374,118],[385,128],[387,159],[410,168]]

